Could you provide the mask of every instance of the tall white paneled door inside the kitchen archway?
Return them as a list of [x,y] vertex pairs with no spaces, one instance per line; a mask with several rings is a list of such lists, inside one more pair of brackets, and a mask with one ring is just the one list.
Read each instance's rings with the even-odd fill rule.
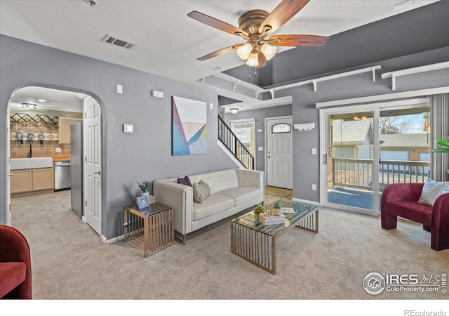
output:
[[86,223],[101,236],[101,112],[98,102],[84,98]]

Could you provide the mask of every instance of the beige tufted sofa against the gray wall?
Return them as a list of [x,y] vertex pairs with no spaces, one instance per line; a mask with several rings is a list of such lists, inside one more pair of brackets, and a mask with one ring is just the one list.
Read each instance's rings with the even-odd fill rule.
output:
[[[184,176],[180,176],[182,178]],[[246,169],[225,169],[189,176],[192,183],[203,180],[210,195],[202,203],[193,199],[193,188],[177,178],[154,181],[156,201],[173,207],[177,239],[264,201],[264,173]],[[178,235],[179,234],[179,235]]]

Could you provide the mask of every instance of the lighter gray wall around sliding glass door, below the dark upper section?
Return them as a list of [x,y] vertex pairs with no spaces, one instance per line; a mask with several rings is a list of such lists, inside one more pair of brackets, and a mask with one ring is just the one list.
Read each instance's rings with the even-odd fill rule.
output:
[[[399,77],[396,81],[396,91],[391,91],[390,79],[380,77],[382,72],[397,69],[398,65],[400,69],[415,67],[417,62],[420,65],[429,65],[438,62],[436,60],[441,58],[447,60],[448,56],[449,47],[391,60],[380,60],[373,63],[373,65],[382,66],[382,71],[377,72],[375,82],[373,82],[372,74],[367,72],[319,83],[317,92],[314,92],[311,85],[279,91],[276,97],[293,96],[293,124],[314,122],[316,126],[308,132],[293,133],[293,197],[319,202],[319,191],[311,190],[312,183],[320,183],[319,155],[310,154],[311,148],[319,148],[320,144],[319,110],[316,109],[316,103],[449,86],[447,69]],[[360,65],[360,68],[367,66]]]

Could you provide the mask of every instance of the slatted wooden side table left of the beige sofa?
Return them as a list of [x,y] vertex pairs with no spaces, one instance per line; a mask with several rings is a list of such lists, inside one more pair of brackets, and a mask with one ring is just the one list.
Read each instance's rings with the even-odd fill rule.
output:
[[123,242],[142,235],[145,238],[145,258],[173,245],[173,209],[160,203],[143,209],[136,205],[123,206]]

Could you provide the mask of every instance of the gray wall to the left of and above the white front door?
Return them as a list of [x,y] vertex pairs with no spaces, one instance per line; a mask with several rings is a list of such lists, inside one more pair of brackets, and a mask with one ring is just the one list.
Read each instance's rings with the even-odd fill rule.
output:
[[[281,105],[278,107],[266,107],[260,110],[241,111],[236,114],[227,113],[225,117],[226,124],[231,127],[231,121],[236,119],[255,119],[255,162],[256,170],[265,171],[265,118],[267,117],[286,117],[292,114],[291,105]],[[257,130],[262,129],[262,133]],[[260,152],[257,147],[264,147],[264,151]]]

